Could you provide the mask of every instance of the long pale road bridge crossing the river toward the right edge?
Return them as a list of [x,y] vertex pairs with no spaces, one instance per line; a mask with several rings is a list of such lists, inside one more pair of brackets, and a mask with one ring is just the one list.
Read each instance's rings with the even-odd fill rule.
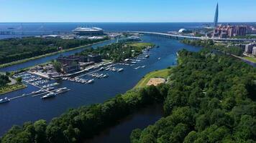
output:
[[127,31],[128,33],[138,33],[138,34],[150,34],[150,35],[160,35],[168,36],[175,39],[195,39],[195,40],[214,40],[214,41],[256,41],[256,39],[230,39],[230,38],[211,38],[211,37],[198,37],[198,36],[186,36],[179,34],[168,34],[163,32],[153,32],[153,31]]

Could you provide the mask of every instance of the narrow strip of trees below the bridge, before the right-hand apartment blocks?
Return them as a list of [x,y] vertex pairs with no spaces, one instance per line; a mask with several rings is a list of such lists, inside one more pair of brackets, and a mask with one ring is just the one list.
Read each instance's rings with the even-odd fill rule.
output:
[[242,56],[244,49],[238,47],[238,46],[224,46],[221,44],[214,44],[214,41],[212,40],[189,40],[189,39],[183,39],[181,41],[184,44],[189,44],[192,46],[203,46],[204,48],[209,49],[216,49],[219,51],[224,52],[224,54],[234,54],[236,56]]

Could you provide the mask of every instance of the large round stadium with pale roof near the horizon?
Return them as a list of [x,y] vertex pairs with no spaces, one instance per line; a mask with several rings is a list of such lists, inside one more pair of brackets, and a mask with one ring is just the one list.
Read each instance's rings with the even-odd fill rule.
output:
[[103,29],[98,27],[92,28],[85,28],[85,27],[78,27],[73,30],[73,33],[79,36],[101,36],[104,35]]

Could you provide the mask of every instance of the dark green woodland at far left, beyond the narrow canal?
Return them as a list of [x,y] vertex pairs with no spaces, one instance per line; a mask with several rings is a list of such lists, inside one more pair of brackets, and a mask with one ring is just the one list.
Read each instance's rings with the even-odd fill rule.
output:
[[22,39],[0,40],[0,64],[48,54],[63,49],[93,44],[106,39],[60,39],[24,37]]

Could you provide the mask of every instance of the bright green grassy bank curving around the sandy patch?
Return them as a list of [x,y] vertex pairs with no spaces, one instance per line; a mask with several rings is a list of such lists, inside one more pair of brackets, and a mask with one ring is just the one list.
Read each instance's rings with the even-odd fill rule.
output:
[[143,77],[134,88],[145,87],[147,82],[154,77],[161,77],[161,78],[167,79],[170,70],[171,69],[162,69],[162,70],[152,71],[146,74],[145,77]]

